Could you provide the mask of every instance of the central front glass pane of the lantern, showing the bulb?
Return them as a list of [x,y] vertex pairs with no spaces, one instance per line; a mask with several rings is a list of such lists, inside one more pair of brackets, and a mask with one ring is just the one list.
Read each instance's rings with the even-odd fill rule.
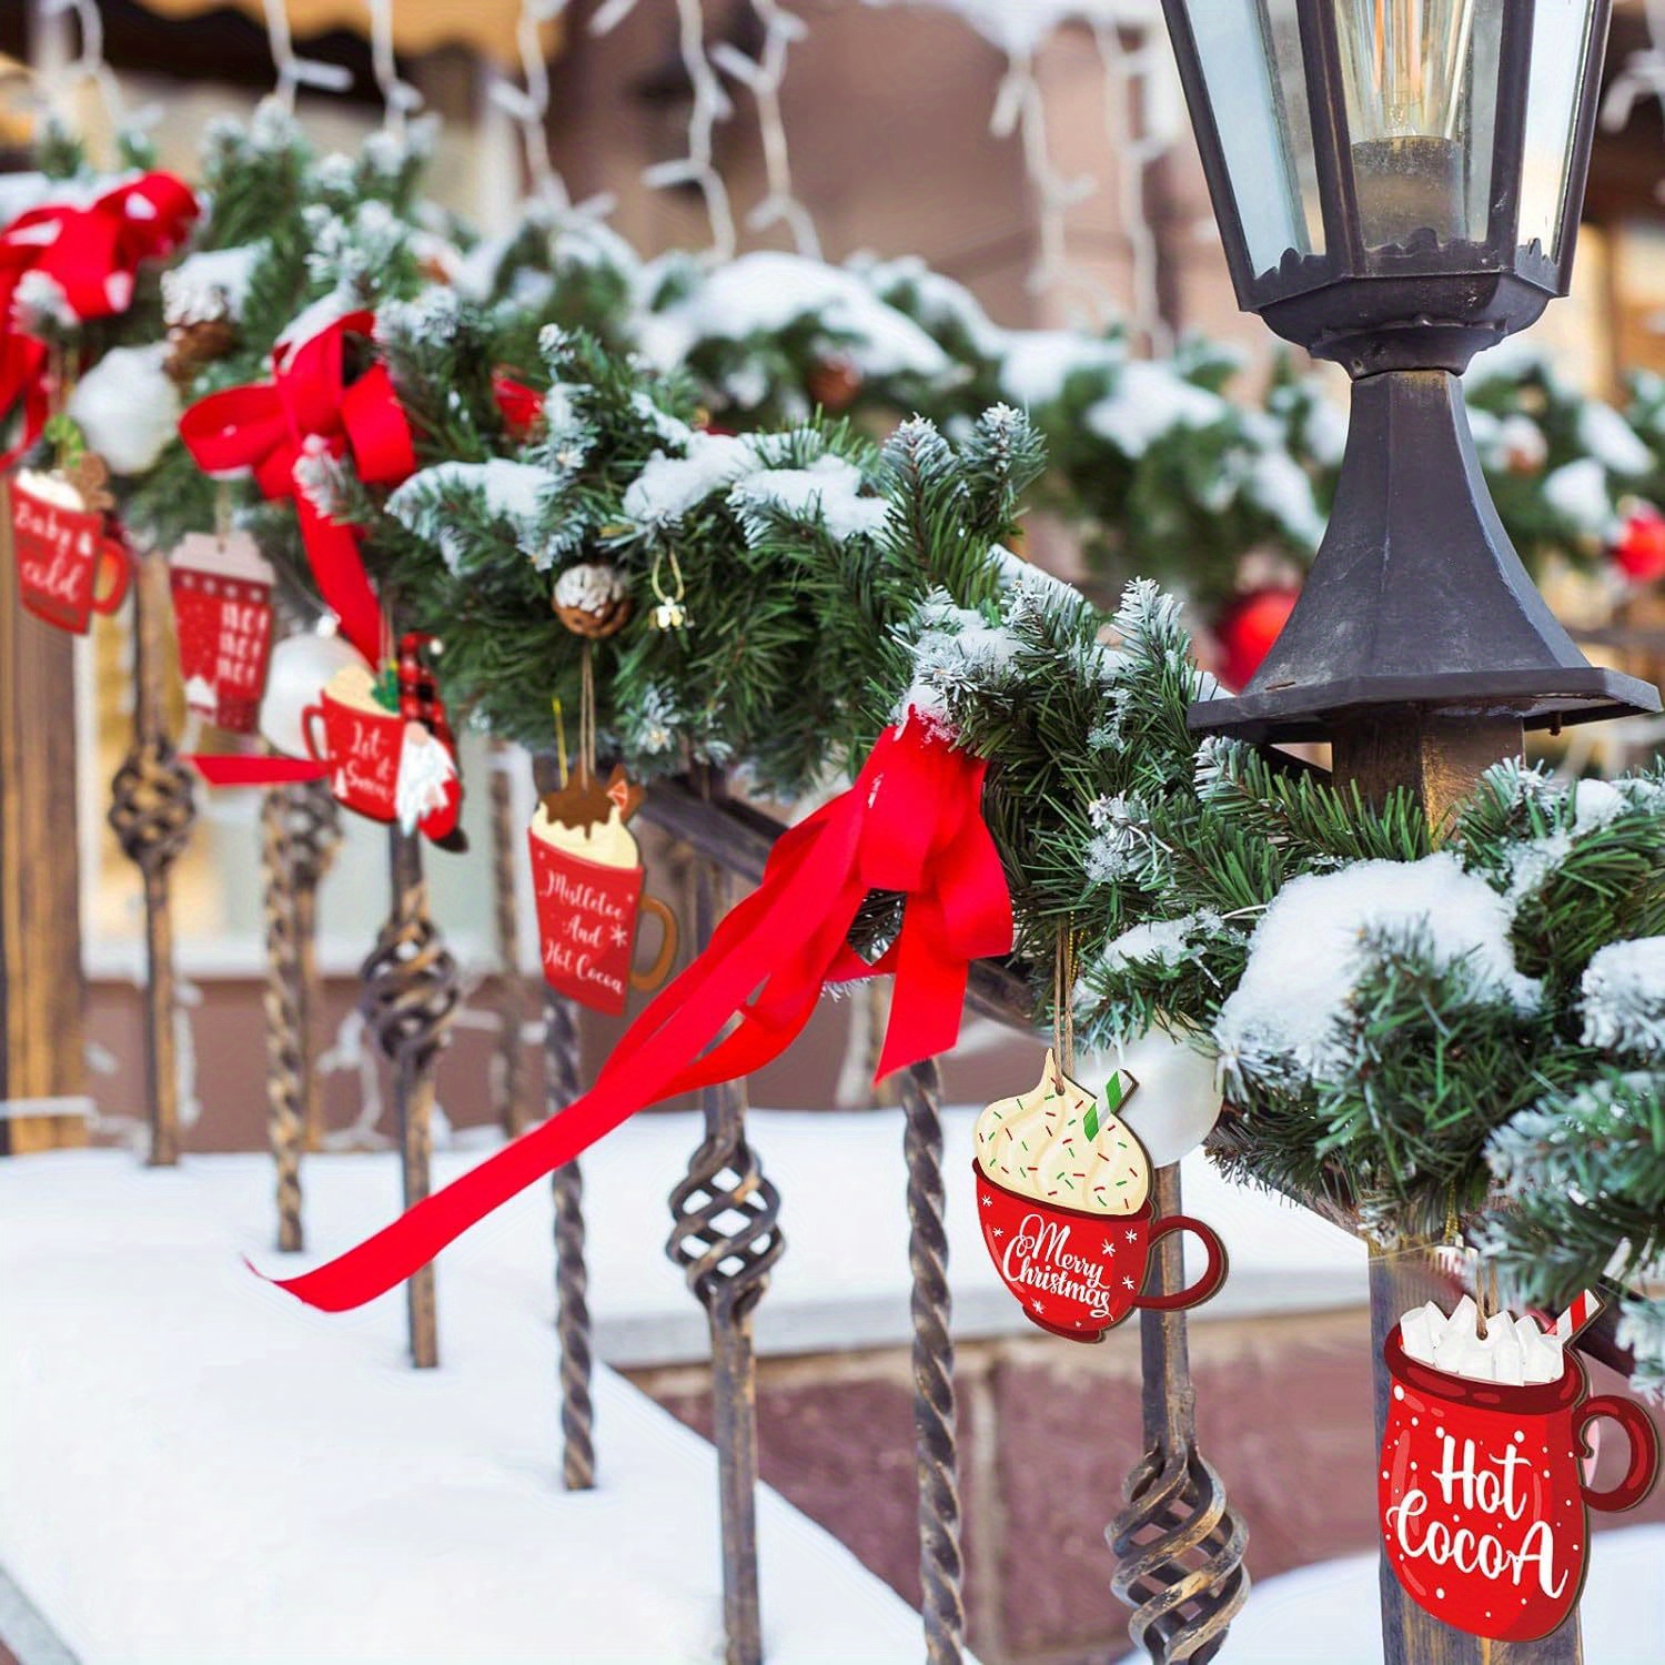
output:
[[1484,243],[1505,0],[1335,0],[1359,223]]

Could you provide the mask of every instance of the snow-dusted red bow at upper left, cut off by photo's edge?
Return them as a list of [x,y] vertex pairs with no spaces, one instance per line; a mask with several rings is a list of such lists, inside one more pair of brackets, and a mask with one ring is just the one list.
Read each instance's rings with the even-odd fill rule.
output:
[[145,173],[85,208],[30,208],[0,233],[0,411],[23,401],[18,451],[40,438],[48,408],[47,346],[18,326],[15,313],[23,276],[50,278],[78,321],[112,318],[132,305],[140,263],[178,248],[195,218],[190,186],[171,173]]

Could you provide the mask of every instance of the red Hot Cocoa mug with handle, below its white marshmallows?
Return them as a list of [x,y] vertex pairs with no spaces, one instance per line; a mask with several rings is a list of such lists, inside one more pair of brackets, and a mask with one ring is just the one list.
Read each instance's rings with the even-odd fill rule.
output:
[[[1535,1642],[1573,1610],[1590,1547],[1585,1507],[1633,1508],[1658,1474],[1658,1435],[1640,1405],[1585,1397],[1568,1352],[1558,1380],[1475,1382],[1384,1344],[1392,1392],[1377,1494],[1387,1563],[1440,1623],[1492,1642]],[[1595,1492],[1580,1475],[1585,1429],[1617,1422],[1623,1479]]]

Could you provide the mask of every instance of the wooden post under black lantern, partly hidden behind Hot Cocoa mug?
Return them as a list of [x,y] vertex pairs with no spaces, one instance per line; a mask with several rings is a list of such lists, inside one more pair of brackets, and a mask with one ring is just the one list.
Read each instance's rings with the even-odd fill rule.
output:
[[[1372,803],[1380,803],[1395,788],[1409,788],[1439,831],[1480,776],[1494,763],[1518,756],[1520,749],[1515,716],[1449,719],[1399,711],[1337,728],[1335,783],[1354,783]],[[1400,1315],[1429,1300],[1435,1287],[1432,1252],[1384,1255],[1372,1250],[1370,1367],[1377,1445],[1387,1424],[1389,1395],[1382,1344]],[[1385,1558],[1380,1585],[1384,1665],[1580,1665],[1583,1658],[1577,1608],[1542,1642],[1494,1642],[1487,1650],[1479,1637],[1452,1630],[1417,1607]]]

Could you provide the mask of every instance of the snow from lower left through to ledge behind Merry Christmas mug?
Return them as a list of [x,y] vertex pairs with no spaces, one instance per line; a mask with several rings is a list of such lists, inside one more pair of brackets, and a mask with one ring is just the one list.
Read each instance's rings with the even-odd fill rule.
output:
[[[956,1329],[1027,1334],[972,1219],[972,1111],[946,1116]],[[904,1344],[899,1112],[754,1112],[788,1250],[764,1352]],[[704,1319],[664,1259],[699,1142],[644,1116],[584,1159],[598,1352],[696,1359]],[[443,1152],[443,1182],[480,1146]],[[398,1205],[391,1154],[310,1157],[313,1257]],[[1197,1309],[1359,1305],[1344,1234],[1192,1159],[1185,1207],[1232,1274]],[[601,1489],[554,1480],[551,1204],[534,1185],[440,1260],[441,1369],[403,1362],[403,1294],[325,1317],[276,1272],[261,1156],[148,1170],[113,1151],[0,1164],[0,1567],[82,1665],[721,1658],[714,1459],[608,1370]],[[283,1270],[300,1262],[285,1262]],[[919,1658],[919,1622],[828,1533],[761,1497],[771,1665]]]

